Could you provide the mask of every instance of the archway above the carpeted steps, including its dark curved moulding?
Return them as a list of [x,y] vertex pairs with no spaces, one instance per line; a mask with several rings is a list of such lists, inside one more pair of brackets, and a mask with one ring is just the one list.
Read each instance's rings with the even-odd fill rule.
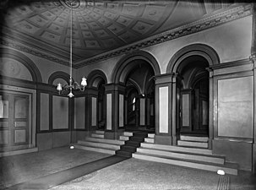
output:
[[[124,129],[155,131],[155,75],[160,68],[150,53],[137,51],[117,62],[112,82],[124,89]],[[120,105],[119,105],[120,106]]]

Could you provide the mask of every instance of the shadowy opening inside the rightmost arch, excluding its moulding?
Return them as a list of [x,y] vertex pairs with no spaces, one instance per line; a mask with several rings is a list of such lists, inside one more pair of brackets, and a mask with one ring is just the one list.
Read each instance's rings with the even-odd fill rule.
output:
[[178,132],[208,136],[209,63],[204,57],[186,57],[177,68]]

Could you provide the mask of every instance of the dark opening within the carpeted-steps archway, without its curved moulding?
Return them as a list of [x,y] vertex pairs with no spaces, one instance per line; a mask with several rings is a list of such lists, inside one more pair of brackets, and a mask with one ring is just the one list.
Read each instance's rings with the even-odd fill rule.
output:
[[[130,69],[124,80],[126,88],[125,101],[127,111],[126,129],[149,130],[155,127],[155,112],[150,112],[150,106],[155,101],[155,75],[153,69],[144,60],[133,60],[137,64]],[[148,115],[148,114],[151,114]],[[154,128],[155,129],[155,128]]]

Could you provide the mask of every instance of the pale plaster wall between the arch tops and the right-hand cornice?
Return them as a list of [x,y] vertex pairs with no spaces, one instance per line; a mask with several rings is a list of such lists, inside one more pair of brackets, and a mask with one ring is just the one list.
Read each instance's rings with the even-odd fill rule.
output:
[[[159,62],[161,73],[166,73],[166,68],[171,58],[184,46],[195,43],[205,44],[215,49],[221,62],[232,62],[250,56],[251,41],[252,16],[248,16],[191,35],[185,35],[172,41],[145,47],[142,50],[150,52]],[[101,69],[106,73],[107,82],[109,83],[113,68],[124,56],[112,57],[84,66],[84,68],[79,68],[77,76],[81,78],[93,69]]]

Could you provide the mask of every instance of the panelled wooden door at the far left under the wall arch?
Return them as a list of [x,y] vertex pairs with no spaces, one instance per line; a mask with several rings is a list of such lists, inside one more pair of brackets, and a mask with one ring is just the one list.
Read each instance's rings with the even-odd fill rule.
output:
[[0,146],[19,149],[29,144],[29,95],[0,94]]

